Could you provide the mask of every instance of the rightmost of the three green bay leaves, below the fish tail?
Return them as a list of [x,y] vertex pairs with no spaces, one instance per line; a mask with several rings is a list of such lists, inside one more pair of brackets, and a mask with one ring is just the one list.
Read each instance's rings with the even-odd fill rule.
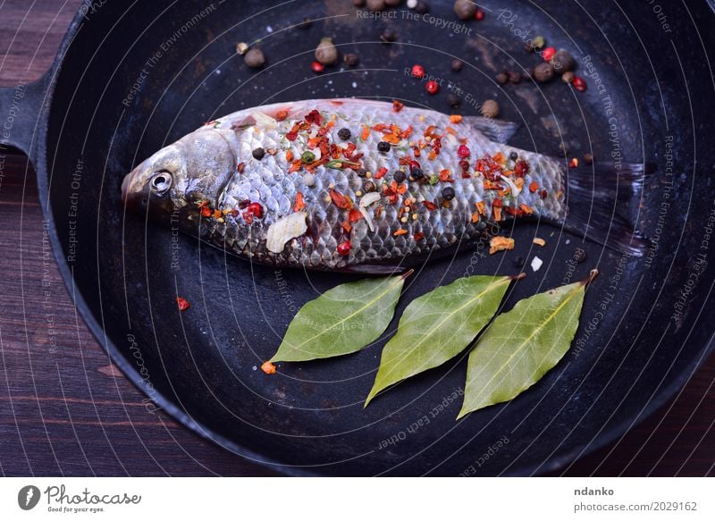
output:
[[515,398],[556,366],[574,340],[585,287],[597,274],[520,300],[494,319],[469,353],[457,419]]

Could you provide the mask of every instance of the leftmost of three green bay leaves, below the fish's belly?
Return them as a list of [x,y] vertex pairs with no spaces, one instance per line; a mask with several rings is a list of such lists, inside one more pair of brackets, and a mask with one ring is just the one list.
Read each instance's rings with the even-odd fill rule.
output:
[[409,273],[348,282],[307,302],[270,361],[302,362],[365,348],[390,324]]

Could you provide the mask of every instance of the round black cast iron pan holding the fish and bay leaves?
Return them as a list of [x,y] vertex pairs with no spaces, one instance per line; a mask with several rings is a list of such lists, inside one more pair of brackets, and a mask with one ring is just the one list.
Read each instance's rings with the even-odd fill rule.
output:
[[[715,48],[715,16],[708,4],[485,0],[485,20],[468,22],[471,34],[440,26],[457,21],[451,2],[429,4],[426,18],[403,19],[403,4],[393,18],[374,20],[357,17],[348,1],[96,1],[72,22],[43,80],[0,94],[10,122],[4,140],[35,164],[64,280],[114,363],[156,408],[290,474],[557,469],[648,415],[710,351],[715,104],[707,51]],[[516,15],[511,24],[504,7]],[[295,27],[306,17],[314,20],[309,28]],[[396,32],[395,43],[380,41],[385,29]],[[580,65],[592,74],[589,90],[576,93],[558,81],[500,88],[493,77],[502,68],[538,63],[523,50],[526,30],[579,61],[589,56],[593,70]],[[342,53],[357,53],[360,64],[315,76],[310,63],[324,36]],[[257,39],[269,60],[258,73],[235,53],[238,42]],[[466,63],[458,74],[450,71],[453,56]],[[119,197],[122,176],[140,160],[243,107],[357,96],[449,110],[447,83],[430,97],[404,75],[413,63],[458,83],[462,113],[475,113],[470,98],[498,98],[501,117],[522,124],[517,146],[555,154],[563,139],[576,155],[658,164],[634,209],[652,240],[647,256],[520,224],[512,231],[517,251],[507,256],[466,253],[410,278],[396,316],[411,298],[465,273],[517,273],[517,256],[538,255],[544,265],[536,273],[526,268],[507,308],[593,267],[601,271],[559,366],[517,399],[460,422],[459,399],[450,397],[463,386],[464,359],[404,382],[363,410],[384,339],[349,357],[261,373],[257,366],[300,305],[349,277],[240,262],[125,214]],[[548,247],[531,249],[534,235]],[[577,265],[576,248],[586,252]],[[189,312],[178,313],[177,294],[192,303]]]

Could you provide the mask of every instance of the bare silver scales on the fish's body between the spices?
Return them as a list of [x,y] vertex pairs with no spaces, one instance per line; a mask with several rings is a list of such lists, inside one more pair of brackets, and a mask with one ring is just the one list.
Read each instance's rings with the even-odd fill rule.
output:
[[[250,226],[242,222],[240,215],[235,218],[229,217],[227,225],[216,226],[208,234],[211,242],[225,248],[225,229],[233,226],[235,233],[231,233],[231,237],[235,236],[235,242],[230,248],[233,253],[240,256],[248,256],[257,262],[277,266],[298,264],[339,269],[361,263],[400,261],[408,256],[423,255],[439,248],[449,248],[457,242],[483,236],[484,221],[492,220],[492,206],[485,205],[485,214],[479,223],[472,223],[472,214],[476,210],[475,203],[484,202],[484,179],[461,178],[458,166],[460,143],[450,134],[442,139],[441,153],[433,161],[427,160],[426,154],[422,154],[416,160],[420,162],[426,175],[437,174],[445,169],[450,170],[454,182],[439,182],[436,185],[409,182],[408,191],[400,197],[397,205],[381,201],[367,208],[366,211],[374,220],[374,232],[369,230],[364,219],[353,223],[349,234],[343,231],[342,223],[346,220],[348,212],[332,203],[329,190],[337,190],[349,197],[357,206],[360,198],[365,195],[363,185],[368,180],[361,178],[352,169],[334,170],[319,166],[314,172],[315,184],[307,186],[304,181],[305,171],[289,173],[290,162],[286,160],[285,152],[290,150],[294,157],[300,157],[307,150],[307,139],[306,136],[299,136],[298,139],[290,141],[285,136],[296,121],[302,120],[313,109],[322,113],[325,120],[329,121],[331,118],[335,120],[332,130],[327,133],[331,143],[340,146],[345,146],[349,142],[355,143],[357,148],[354,154],[364,154],[363,168],[368,172],[374,174],[379,168],[388,169],[382,180],[373,180],[375,183],[379,184],[381,181],[390,183],[395,171],[400,168],[405,170],[400,166],[400,157],[412,157],[412,152],[406,147],[407,142],[403,143],[402,147],[391,147],[388,153],[378,152],[377,145],[383,139],[383,134],[371,131],[369,137],[363,141],[359,136],[364,125],[373,127],[378,123],[394,123],[402,130],[412,126],[412,137],[406,141],[419,139],[430,126],[436,127],[439,133],[444,132],[447,127],[452,127],[458,130],[460,138],[467,139],[472,165],[475,158],[484,154],[494,155],[501,152],[509,155],[513,151],[517,152],[520,159],[526,160],[531,165],[532,172],[526,174],[525,188],[517,197],[515,206],[526,204],[534,208],[534,214],[551,220],[558,220],[565,216],[565,206],[556,198],[558,191],[563,189],[563,183],[559,179],[559,166],[553,164],[553,161],[547,157],[493,143],[482,132],[470,127],[468,118],[457,125],[450,122],[449,116],[433,111],[405,107],[399,113],[395,113],[391,104],[364,100],[342,100],[337,103],[341,105],[326,100],[300,102],[290,107],[290,116],[279,122],[274,129],[262,129],[261,126],[254,125],[246,130],[237,131],[240,143],[238,156],[244,167],[242,172],[237,172],[229,181],[218,207],[233,210],[238,209],[242,201],[258,202],[264,206],[265,216],[260,220],[254,220]],[[274,113],[277,109],[286,106],[269,105],[259,110],[262,113]],[[219,128],[240,122],[249,114],[244,111],[226,116],[218,120]],[[351,137],[347,141],[343,141],[338,136],[341,128],[347,128],[351,132]],[[314,133],[312,132],[311,135]],[[252,156],[252,151],[258,147],[265,150],[273,148],[278,152],[275,155],[266,154],[263,159],[258,160]],[[423,153],[425,152],[426,150],[423,150]],[[539,172],[542,175],[539,175]],[[544,173],[547,179],[544,179]],[[550,201],[543,201],[541,197],[526,189],[531,181],[537,179],[540,189],[545,189],[548,194],[551,194],[553,198],[551,204]],[[423,201],[439,204],[442,189],[448,185],[455,189],[455,197],[447,207],[441,206],[437,210],[430,211]],[[309,232],[303,237],[291,239],[280,254],[268,251],[265,241],[251,242],[248,239],[251,234],[254,237],[265,237],[273,223],[292,213],[292,206],[298,192],[302,193],[306,204]],[[404,197],[411,197],[417,201],[416,207],[411,208],[407,214],[407,223],[401,223],[398,218],[399,207]],[[508,204],[506,203],[505,206]],[[375,209],[379,206],[382,206],[382,213],[376,216]],[[412,214],[417,214],[417,220],[413,220]],[[311,234],[311,230],[316,230],[317,233]],[[395,236],[395,232],[400,230],[406,232]],[[418,232],[424,234],[424,239],[416,238]],[[341,256],[336,248],[346,239],[349,239],[352,248],[349,256]]]

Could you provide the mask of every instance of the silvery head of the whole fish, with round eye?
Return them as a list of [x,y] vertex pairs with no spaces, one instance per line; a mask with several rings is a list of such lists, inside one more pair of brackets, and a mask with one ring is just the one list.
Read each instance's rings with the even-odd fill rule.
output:
[[237,170],[232,131],[199,129],[164,147],[124,176],[122,202],[131,210],[169,217],[217,206]]

